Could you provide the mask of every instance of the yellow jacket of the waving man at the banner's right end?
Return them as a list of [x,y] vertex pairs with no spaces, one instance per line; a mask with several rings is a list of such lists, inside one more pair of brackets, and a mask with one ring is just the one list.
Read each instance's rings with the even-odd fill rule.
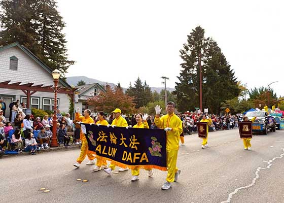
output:
[[158,128],[172,128],[171,131],[166,131],[166,148],[172,150],[179,150],[180,134],[183,132],[182,120],[175,114],[167,114],[162,116],[161,118],[155,117],[154,122]]

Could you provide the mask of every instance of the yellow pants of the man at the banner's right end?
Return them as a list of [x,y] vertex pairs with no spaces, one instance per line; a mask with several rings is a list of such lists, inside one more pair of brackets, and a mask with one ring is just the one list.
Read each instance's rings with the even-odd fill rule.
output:
[[167,153],[167,168],[168,168],[168,175],[166,178],[167,182],[174,181],[174,174],[177,172],[178,168],[176,167],[176,160],[177,160],[177,150],[172,150],[166,148]]

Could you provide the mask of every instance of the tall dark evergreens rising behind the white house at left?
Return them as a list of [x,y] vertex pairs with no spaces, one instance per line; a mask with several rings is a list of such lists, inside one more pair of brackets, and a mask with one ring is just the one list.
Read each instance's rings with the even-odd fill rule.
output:
[[65,23],[56,4],[54,0],[1,0],[0,45],[19,42],[64,74],[74,61],[67,59]]

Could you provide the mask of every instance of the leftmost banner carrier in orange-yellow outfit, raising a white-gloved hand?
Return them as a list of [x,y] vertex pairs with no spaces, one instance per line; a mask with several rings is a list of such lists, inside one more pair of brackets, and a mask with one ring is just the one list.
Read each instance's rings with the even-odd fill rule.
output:
[[[94,123],[94,120],[90,117],[90,114],[91,114],[91,111],[89,109],[86,109],[84,111],[84,116],[82,116],[80,113],[80,108],[77,107],[76,109],[76,114],[75,114],[75,119],[78,121],[78,122],[83,122],[83,123]],[[89,162],[86,163],[87,165],[92,165],[92,164],[95,164],[95,157],[94,155],[89,152],[88,150],[88,142],[86,140],[86,137],[85,137],[85,134],[82,132],[81,130],[81,133],[80,133],[80,140],[82,141],[82,147],[81,147],[81,153],[80,153],[80,156],[78,157],[76,163],[74,163],[73,165],[75,167],[80,167],[80,164],[82,163],[82,161],[85,159],[85,157],[88,155],[88,158],[89,158]]]

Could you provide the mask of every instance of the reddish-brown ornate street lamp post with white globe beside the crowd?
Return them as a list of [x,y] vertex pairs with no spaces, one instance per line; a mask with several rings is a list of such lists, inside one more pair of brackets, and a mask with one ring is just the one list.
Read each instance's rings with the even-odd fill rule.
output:
[[52,122],[52,139],[51,139],[51,147],[58,147],[57,143],[57,116],[56,116],[56,111],[57,111],[57,84],[58,84],[58,79],[60,77],[60,72],[56,69],[52,72],[52,77],[54,80],[54,114],[53,114],[53,122]]

